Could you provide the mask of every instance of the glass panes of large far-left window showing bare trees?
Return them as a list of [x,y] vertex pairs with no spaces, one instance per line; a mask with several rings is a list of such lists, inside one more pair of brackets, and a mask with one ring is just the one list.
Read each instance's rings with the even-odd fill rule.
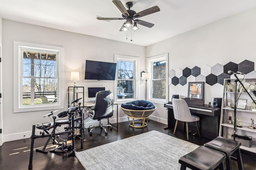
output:
[[22,54],[22,104],[43,104],[42,97],[48,103],[57,102],[57,54],[32,49],[22,49]]

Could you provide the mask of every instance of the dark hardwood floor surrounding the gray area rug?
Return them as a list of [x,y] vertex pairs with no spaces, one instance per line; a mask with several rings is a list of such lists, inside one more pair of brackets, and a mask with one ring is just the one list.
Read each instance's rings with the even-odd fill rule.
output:
[[[80,149],[80,139],[76,137],[76,151],[86,150],[106,143],[118,141],[127,137],[138,135],[147,131],[156,130],[162,133],[166,133],[170,136],[173,135],[174,129],[163,128],[167,125],[150,120],[147,127],[144,128],[132,128],[129,127],[128,122],[118,123],[118,131],[116,127],[108,131],[108,135],[105,135],[104,131],[97,128],[92,131],[92,136],[89,135],[87,129],[84,131],[84,149]],[[62,138],[66,136],[61,136]],[[175,137],[186,140],[186,132],[180,130],[176,131]],[[35,139],[34,149],[43,147],[47,138]],[[197,145],[203,145],[208,142],[209,139],[200,138],[190,134],[189,142]],[[0,147],[0,170],[27,170],[30,158],[30,144],[31,139],[21,139],[17,141],[6,142]],[[52,149],[46,148],[46,151]],[[77,160],[75,156],[67,156],[67,153],[56,154],[48,152],[48,154],[33,152],[33,169],[34,170],[83,170],[83,166]],[[255,154],[248,154],[248,152],[242,152],[242,160],[244,164],[244,170],[256,170],[256,156]],[[253,157],[249,158],[249,157]],[[178,161],[178,160],[177,160]],[[232,161],[232,170],[237,170],[236,162]]]

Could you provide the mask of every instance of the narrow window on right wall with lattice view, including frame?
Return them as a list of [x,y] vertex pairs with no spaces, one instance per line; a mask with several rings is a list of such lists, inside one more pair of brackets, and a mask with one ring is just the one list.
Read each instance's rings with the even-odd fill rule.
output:
[[152,73],[149,84],[149,99],[154,102],[167,102],[168,100],[168,54],[150,57],[147,59],[148,71]]

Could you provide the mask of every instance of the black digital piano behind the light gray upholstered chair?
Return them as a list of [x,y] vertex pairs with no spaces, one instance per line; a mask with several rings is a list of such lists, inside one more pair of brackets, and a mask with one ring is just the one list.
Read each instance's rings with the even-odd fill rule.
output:
[[[168,108],[168,129],[174,127],[176,120],[174,119],[172,104],[164,104],[164,107]],[[201,137],[207,139],[214,139],[218,137],[219,128],[220,128],[220,108],[209,108],[209,109],[199,109],[194,107],[189,107],[192,115],[197,115],[200,117],[200,131]],[[210,110],[212,109],[212,110]],[[192,131],[197,131],[193,123],[188,123]],[[182,130],[182,123],[179,122],[178,129]]]

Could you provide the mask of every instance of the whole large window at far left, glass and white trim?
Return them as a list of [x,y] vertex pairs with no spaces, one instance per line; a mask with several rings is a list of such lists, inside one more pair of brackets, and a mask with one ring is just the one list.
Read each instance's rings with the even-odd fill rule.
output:
[[14,41],[14,73],[17,73],[14,82],[18,82],[14,84],[14,112],[61,106],[59,63],[62,53],[61,47]]

